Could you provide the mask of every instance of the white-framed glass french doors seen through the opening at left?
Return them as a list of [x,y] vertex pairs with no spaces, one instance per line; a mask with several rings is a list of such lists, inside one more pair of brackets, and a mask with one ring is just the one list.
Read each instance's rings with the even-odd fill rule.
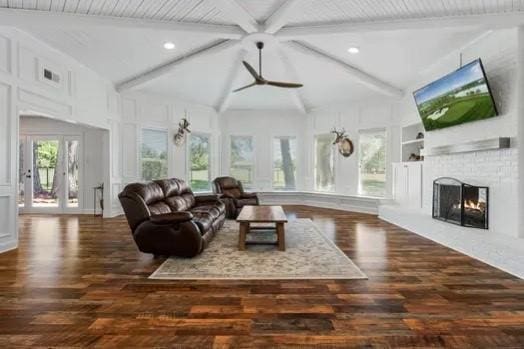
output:
[[19,144],[19,211],[79,212],[80,137],[21,135]]

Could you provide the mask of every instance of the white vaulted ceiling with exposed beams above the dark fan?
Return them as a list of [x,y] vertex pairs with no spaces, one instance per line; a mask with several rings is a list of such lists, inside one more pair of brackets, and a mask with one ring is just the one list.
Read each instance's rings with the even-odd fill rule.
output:
[[[524,0],[0,0],[19,27],[122,91],[226,109],[299,109],[399,98],[417,73],[486,30],[524,23]],[[242,67],[297,81],[257,86]],[[167,51],[163,44],[175,43]],[[349,54],[349,47],[360,53]]]

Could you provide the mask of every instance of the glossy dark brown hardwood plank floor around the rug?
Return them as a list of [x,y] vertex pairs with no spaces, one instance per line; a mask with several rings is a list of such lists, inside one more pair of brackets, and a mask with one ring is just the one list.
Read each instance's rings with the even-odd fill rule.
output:
[[159,281],[123,218],[21,216],[0,347],[523,348],[524,281],[370,215],[309,217],[368,280]]

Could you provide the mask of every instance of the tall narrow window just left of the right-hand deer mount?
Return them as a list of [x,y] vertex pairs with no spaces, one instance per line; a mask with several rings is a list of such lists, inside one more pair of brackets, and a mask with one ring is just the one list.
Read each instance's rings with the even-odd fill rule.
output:
[[335,190],[335,147],[330,133],[315,136],[315,190]]

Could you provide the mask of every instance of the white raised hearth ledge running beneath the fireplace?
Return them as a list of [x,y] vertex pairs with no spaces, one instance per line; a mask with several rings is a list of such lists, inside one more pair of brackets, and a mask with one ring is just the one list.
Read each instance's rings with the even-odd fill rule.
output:
[[524,239],[448,224],[397,205],[380,205],[379,218],[524,279]]

